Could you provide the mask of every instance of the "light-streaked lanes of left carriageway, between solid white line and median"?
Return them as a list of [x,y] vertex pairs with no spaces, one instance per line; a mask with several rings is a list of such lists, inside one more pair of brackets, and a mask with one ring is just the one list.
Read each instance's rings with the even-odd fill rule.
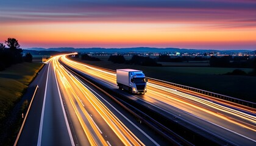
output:
[[[117,103],[82,82],[56,62],[65,104],[73,120],[77,143],[82,145],[163,145],[162,137],[127,115]],[[76,121],[79,120],[79,123]],[[79,133],[79,134],[77,134]],[[87,137],[87,141],[85,141]]]

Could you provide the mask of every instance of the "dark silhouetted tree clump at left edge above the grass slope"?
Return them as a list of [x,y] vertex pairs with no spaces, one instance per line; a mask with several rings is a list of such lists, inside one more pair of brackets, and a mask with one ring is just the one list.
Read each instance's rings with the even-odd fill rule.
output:
[[[22,63],[23,61],[32,62],[32,55],[27,53],[23,57],[23,49],[21,49],[18,40],[15,38],[8,38],[0,43],[0,71],[9,68],[12,64]],[[4,45],[6,44],[7,47]]]

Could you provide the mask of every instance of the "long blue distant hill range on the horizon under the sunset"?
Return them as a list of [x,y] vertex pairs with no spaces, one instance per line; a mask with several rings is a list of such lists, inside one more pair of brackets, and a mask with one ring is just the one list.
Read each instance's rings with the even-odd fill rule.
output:
[[58,48],[41,48],[32,47],[25,50],[44,50],[44,51],[57,51],[57,52],[80,52],[80,53],[131,53],[131,52],[252,52],[252,50],[201,50],[201,49],[179,49],[174,47],[168,48],[157,48],[157,47],[127,47],[127,48],[102,48],[102,47],[92,47],[92,48],[74,48],[74,47],[58,47]]

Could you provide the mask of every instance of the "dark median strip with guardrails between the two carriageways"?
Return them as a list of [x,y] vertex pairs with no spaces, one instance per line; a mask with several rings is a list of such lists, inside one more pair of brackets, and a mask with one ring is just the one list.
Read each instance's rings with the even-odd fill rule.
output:
[[223,139],[219,139],[213,134],[205,133],[204,130],[193,126],[187,127],[188,123],[179,119],[179,117],[165,116],[162,112],[155,112],[151,106],[129,99],[123,94],[116,92],[115,89],[108,88],[96,82],[95,78],[91,78],[84,72],[71,68],[62,61],[60,61],[60,63],[78,77],[104,92],[112,100],[138,118],[140,123],[143,122],[151,127],[152,130],[155,130],[158,134],[165,137],[172,145],[229,145],[229,143]]

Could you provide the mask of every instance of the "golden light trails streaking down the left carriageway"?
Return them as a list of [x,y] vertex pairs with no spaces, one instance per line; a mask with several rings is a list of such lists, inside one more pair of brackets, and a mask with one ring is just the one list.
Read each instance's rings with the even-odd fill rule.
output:
[[[144,145],[98,97],[94,96],[74,75],[62,67],[58,61],[61,56],[59,55],[54,59],[54,71],[57,75],[57,80],[59,80],[60,90],[71,103],[90,145],[109,145],[110,142],[104,139],[101,130],[85,106],[93,107],[105,124],[116,134],[116,138],[123,142],[124,145]],[[104,75],[102,77],[108,76]]]

